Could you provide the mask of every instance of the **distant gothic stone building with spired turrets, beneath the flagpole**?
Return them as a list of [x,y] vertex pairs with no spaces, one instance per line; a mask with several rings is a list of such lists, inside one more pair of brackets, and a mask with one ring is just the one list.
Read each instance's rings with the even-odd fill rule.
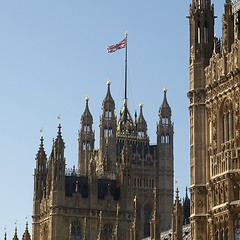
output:
[[86,99],[78,135],[78,170],[65,170],[59,124],[47,159],[43,137],[36,154],[33,240],[142,239],[171,226],[173,123],[164,90],[157,144],[150,145],[143,105],[131,117],[127,99],[117,119],[110,82],[102,103],[100,147]]

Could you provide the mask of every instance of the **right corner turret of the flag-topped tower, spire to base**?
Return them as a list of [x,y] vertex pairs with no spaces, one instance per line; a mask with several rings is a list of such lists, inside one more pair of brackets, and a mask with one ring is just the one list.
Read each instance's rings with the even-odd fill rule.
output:
[[159,108],[157,126],[158,151],[158,209],[161,216],[160,231],[171,228],[171,209],[173,204],[173,123],[172,111],[167,101],[167,90],[164,89],[163,102]]

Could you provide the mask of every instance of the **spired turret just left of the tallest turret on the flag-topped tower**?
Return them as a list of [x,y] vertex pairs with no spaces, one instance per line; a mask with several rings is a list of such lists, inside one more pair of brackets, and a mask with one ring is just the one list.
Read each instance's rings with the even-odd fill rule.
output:
[[78,132],[78,172],[88,175],[91,153],[94,150],[93,117],[88,107],[89,98],[86,97],[86,107],[81,117],[81,128]]

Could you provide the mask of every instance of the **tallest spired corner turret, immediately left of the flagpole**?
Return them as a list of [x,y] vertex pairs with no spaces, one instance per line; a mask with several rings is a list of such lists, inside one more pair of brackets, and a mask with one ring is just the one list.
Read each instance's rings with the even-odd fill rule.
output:
[[115,103],[110,92],[111,82],[107,82],[107,94],[102,103],[100,119],[100,161],[105,173],[116,171],[116,128]]

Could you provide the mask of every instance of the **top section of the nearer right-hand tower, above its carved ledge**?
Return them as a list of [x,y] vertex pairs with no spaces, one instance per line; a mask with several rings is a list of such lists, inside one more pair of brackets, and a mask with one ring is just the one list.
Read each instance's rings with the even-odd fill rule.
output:
[[190,5],[190,89],[205,87],[204,68],[214,44],[214,7],[211,0],[192,0]]

